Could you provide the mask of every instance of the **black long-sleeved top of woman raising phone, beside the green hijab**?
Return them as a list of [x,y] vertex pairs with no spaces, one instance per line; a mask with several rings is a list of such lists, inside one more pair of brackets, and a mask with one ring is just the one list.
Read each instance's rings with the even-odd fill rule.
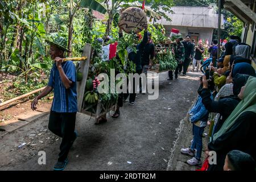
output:
[[210,99],[209,89],[203,89],[201,92],[199,92],[199,95],[202,97],[202,102],[205,109],[207,109],[210,113],[220,113],[220,119],[216,125],[216,132],[220,130],[222,124],[241,101],[237,96],[222,97],[218,101],[213,101]]

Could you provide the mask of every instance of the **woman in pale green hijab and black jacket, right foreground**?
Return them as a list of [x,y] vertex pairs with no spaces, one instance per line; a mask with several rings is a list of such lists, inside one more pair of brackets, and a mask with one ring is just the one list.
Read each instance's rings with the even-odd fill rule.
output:
[[[203,78],[203,82],[207,82]],[[221,129],[209,142],[209,151],[217,154],[217,163],[209,166],[208,171],[222,171],[226,154],[231,150],[241,150],[256,159],[256,78],[250,76],[242,86],[238,97],[241,102],[226,119]]]

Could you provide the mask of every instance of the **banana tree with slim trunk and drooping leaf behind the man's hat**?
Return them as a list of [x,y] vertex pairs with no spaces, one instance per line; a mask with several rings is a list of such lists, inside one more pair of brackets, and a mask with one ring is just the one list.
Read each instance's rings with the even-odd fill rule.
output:
[[101,5],[100,2],[96,0],[69,0],[68,8],[69,8],[69,24],[68,24],[68,56],[71,56],[71,45],[72,45],[72,37],[73,37],[73,18],[79,10],[80,7],[85,7],[88,9],[96,10],[102,14],[106,13],[106,9]]

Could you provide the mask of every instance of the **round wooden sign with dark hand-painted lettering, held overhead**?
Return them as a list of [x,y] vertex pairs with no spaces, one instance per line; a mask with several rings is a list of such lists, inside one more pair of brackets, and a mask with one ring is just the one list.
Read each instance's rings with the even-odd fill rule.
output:
[[139,7],[129,7],[122,11],[119,26],[126,33],[139,33],[147,26],[147,16]]

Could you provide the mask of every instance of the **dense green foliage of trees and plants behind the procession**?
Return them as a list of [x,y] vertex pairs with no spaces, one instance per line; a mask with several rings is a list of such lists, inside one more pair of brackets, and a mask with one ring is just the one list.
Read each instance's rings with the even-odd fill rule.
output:
[[[46,42],[56,35],[69,39],[68,56],[79,57],[85,43],[97,49],[94,40],[111,35],[118,41],[118,56],[122,64],[126,65],[127,52],[125,47],[134,44],[134,35],[125,34],[118,38],[117,23],[119,10],[131,6],[134,0],[113,0],[112,3],[103,0],[2,0],[0,1],[0,71],[18,74],[13,88],[19,88],[18,93],[26,93],[40,88],[46,84],[46,78],[53,61],[49,58],[49,46]],[[142,3],[143,1],[139,1]],[[171,11],[171,6],[208,6],[214,0],[197,1],[170,1],[146,0],[146,6],[151,6],[152,11],[147,15],[166,16],[164,13]],[[141,4],[140,4],[141,5]],[[88,7],[89,9],[87,9]],[[106,13],[104,20],[96,20],[92,10]],[[230,14],[226,14],[225,30],[222,39],[232,34],[241,34],[242,22]],[[163,28],[150,26],[154,42],[163,42]],[[143,35],[143,32],[142,32]],[[109,43],[110,43],[109,42]],[[99,63],[99,57],[93,58],[94,63]],[[98,60],[97,60],[98,59]],[[113,60],[113,64],[117,62]],[[103,65],[107,68],[107,65]],[[121,71],[121,67],[118,67]],[[134,70],[130,63],[129,72]],[[42,76],[44,75],[44,76]],[[17,89],[18,90],[18,89]]]

